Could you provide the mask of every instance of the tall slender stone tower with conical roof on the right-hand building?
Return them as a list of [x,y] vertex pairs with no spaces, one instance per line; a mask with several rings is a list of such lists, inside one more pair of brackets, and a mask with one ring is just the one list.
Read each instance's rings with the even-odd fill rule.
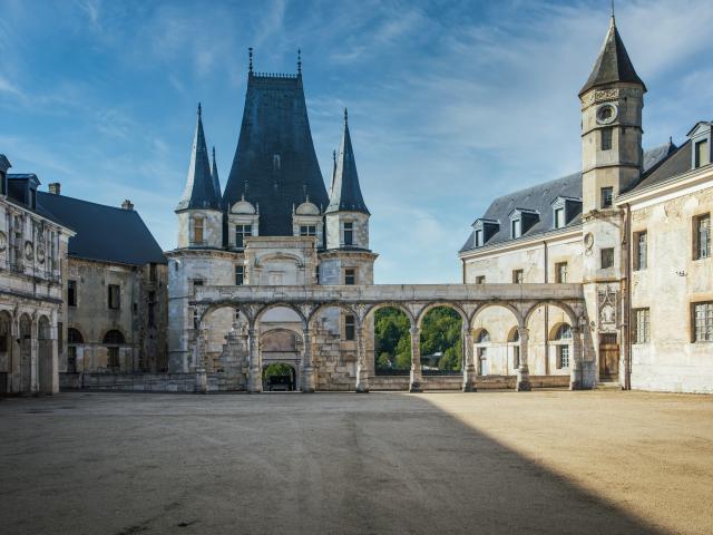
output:
[[[582,101],[584,289],[596,379],[622,380],[625,344],[623,212],[614,202],[641,178],[642,108],[646,86],[636,74],[614,16]],[[594,371],[594,370],[593,370]]]

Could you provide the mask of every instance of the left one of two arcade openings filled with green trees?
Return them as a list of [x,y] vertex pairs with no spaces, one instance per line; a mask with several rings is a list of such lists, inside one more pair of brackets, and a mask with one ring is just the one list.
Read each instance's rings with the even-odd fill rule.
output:
[[411,319],[401,309],[380,305],[374,321],[374,371],[377,376],[408,376],[411,370]]

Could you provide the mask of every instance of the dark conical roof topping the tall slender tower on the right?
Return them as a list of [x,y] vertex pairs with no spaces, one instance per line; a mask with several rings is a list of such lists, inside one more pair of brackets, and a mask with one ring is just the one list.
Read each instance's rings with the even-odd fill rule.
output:
[[602,45],[602,50],[599,50],[599,57],[594,64],[589,79],[579,91],[579,96],[594,87],[605,86],[616,81],[641,84],[644,91],[646,90],[646,86],[636,74],[634,65],[626,52],[626,47],[624,47],[624,42],[622,41],[622,37],[616,29],[616,19],[612,16],[609,31],[607,31],[604,43]]

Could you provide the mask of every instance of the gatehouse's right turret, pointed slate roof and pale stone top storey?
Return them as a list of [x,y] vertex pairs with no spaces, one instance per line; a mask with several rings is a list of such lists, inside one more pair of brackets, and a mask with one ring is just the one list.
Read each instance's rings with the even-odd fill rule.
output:
[[369,210],[356,174],[356,163],[344,109],[344,133],[339,149],[330,204],[326,207],[326,249],[369,249]]

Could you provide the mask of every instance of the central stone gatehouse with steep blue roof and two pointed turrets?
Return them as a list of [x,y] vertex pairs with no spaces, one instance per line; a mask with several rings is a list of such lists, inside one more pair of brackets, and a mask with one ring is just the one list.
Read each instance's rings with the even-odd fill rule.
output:
[[[299,314],[275,305],[260,318],[254,333],[248,332],[252,323],[229,305],[212,310],[203,322],[208,327],[198,331],[201,319],[191,304],[197,286],[373,284],[377,254],[369,249],[370,213],[346,111],[328,193],[312,143],[300,64],[296,75],[257,74],[251,50],[240,138],[224,192],[215,152],[209,160],[198,106],[188,177],[176,214],[178,244],[166,253],[170,372],[205,367],[229,388],[247,388],[248,339],[260,339],[261,364],[255,366],[290,366],[294,388],[353,388],[355,318],[339,307],[322,311],[319,328],[309,333]],[[320,349],[314,370],[304,373],[302,350],[310,343]],[[367,346],[373,370],[373,337]],[[250,374],[254,382],[258,376]],[[251,389],[258,391],[262,385],[255,382]]]

